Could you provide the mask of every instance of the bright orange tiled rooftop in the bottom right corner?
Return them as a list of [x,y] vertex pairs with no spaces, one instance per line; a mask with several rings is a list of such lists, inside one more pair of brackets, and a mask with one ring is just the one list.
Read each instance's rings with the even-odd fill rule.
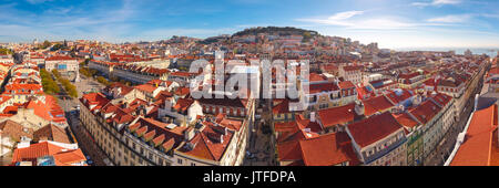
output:
[[480,94],[475,98],[473,113],[465,129],[459,134],[446,166],[498,166],[498,59],[485,75]]

